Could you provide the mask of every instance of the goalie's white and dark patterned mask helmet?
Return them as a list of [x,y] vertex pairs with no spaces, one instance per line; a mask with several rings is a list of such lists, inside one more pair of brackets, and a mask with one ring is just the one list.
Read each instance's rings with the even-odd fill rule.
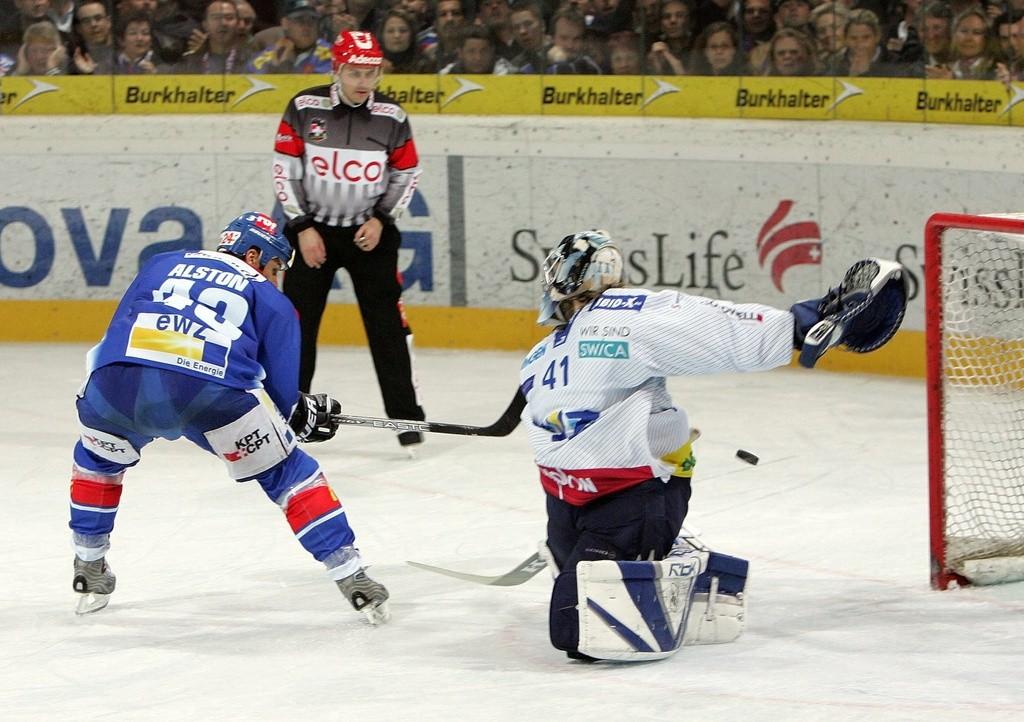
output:
[[544,295],[538,324],[564,324],[562,301],[599,296],[623,283],[623,254],[607,231],[566,236],[544,259]]

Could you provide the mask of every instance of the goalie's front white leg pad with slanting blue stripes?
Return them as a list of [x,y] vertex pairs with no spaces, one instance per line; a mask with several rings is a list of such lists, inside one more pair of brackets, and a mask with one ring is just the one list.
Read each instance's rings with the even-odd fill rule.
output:
[[676,653],[705,561],[694,553],[663,561],[577,564],[580,651],[620,662]]

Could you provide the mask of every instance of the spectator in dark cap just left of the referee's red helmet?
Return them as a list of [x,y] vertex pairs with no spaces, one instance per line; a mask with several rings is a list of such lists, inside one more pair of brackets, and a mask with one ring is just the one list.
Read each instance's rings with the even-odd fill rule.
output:
[[330,73],[331,44],[318,36],[318,19],[310,0],[288,0],[281,19],[285,37],[253,57],[246,72]]

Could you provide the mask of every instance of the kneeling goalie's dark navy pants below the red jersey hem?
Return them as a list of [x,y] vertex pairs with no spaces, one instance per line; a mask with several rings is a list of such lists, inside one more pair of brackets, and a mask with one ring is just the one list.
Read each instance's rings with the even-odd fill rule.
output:
[[653,478],[584,506],[547,498],[548,548],[560,569],[551,592],[549,633],[556,649],[580,643],[577,563],[664,559],[686,518],[690,479]]

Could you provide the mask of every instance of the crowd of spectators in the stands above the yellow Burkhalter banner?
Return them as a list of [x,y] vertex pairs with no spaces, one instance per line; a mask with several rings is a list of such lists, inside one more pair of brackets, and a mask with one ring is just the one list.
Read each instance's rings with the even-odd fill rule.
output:
[[0,76],[396,74],[1024,80],[1024,0],[0,0]]

